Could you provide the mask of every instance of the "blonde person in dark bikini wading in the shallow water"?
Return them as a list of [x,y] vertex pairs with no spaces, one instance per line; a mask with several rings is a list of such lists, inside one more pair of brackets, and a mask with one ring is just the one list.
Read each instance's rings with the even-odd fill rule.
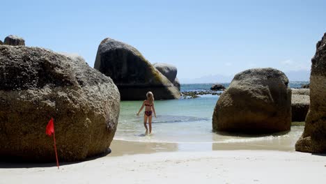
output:
[[148,91],[146,93],[146,96],[147,96],[147,100],[143,100],[143,105],[141,105],[141,108],[139,109],[137,116],[139,116],[139,113],[141,112],[141,110],[143,110],[143,107],[145,107],[145,113],[143,114],[143,125],[146,128],[146,135],[147,135],[148,134],[147,121],[149,126],[149,133],[152,133],[152,114],[154,112],[154,116],[156,118],[156,113],[154,108],[153,93]]

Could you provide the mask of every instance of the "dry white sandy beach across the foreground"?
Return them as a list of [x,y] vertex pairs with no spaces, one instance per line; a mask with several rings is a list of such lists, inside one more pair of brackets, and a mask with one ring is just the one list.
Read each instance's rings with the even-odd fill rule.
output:
[[0,183],[326,183],[326,156],[294,151],[107,155],[59,170],[1,164]]

